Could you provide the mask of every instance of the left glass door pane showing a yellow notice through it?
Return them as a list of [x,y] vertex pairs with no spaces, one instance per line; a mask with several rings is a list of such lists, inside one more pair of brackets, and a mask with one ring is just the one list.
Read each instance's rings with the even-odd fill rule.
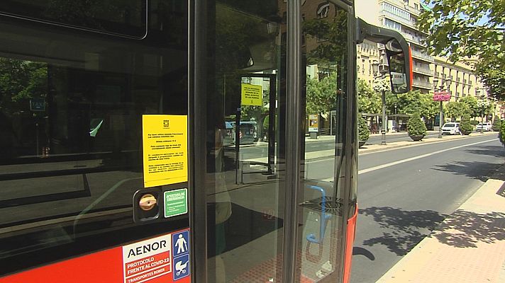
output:
[[[277,278],[285,37],[278,1],[218,1],[207,109],[209,282]],[[285,28],[284,28],[285,30]],[[267,269],[263,266],[268,266]]]

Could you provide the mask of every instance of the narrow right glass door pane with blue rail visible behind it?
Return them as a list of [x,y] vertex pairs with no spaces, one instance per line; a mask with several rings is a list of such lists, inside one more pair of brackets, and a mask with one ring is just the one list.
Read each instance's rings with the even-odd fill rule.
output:
[[[338,281],[335,272],[342,255],[345,166],[344,141],[348,132],[348,13],[333,3],[307,1],[302,11],[317,8],[302,28],[306,62],[306,138],[304,182],[299,226],[299,278],[313,282]],[[324,13],[320,13],[324,11]],[[314,129],[314,117],[317,117]],[[343,179],[342,179],[343,180]]]

